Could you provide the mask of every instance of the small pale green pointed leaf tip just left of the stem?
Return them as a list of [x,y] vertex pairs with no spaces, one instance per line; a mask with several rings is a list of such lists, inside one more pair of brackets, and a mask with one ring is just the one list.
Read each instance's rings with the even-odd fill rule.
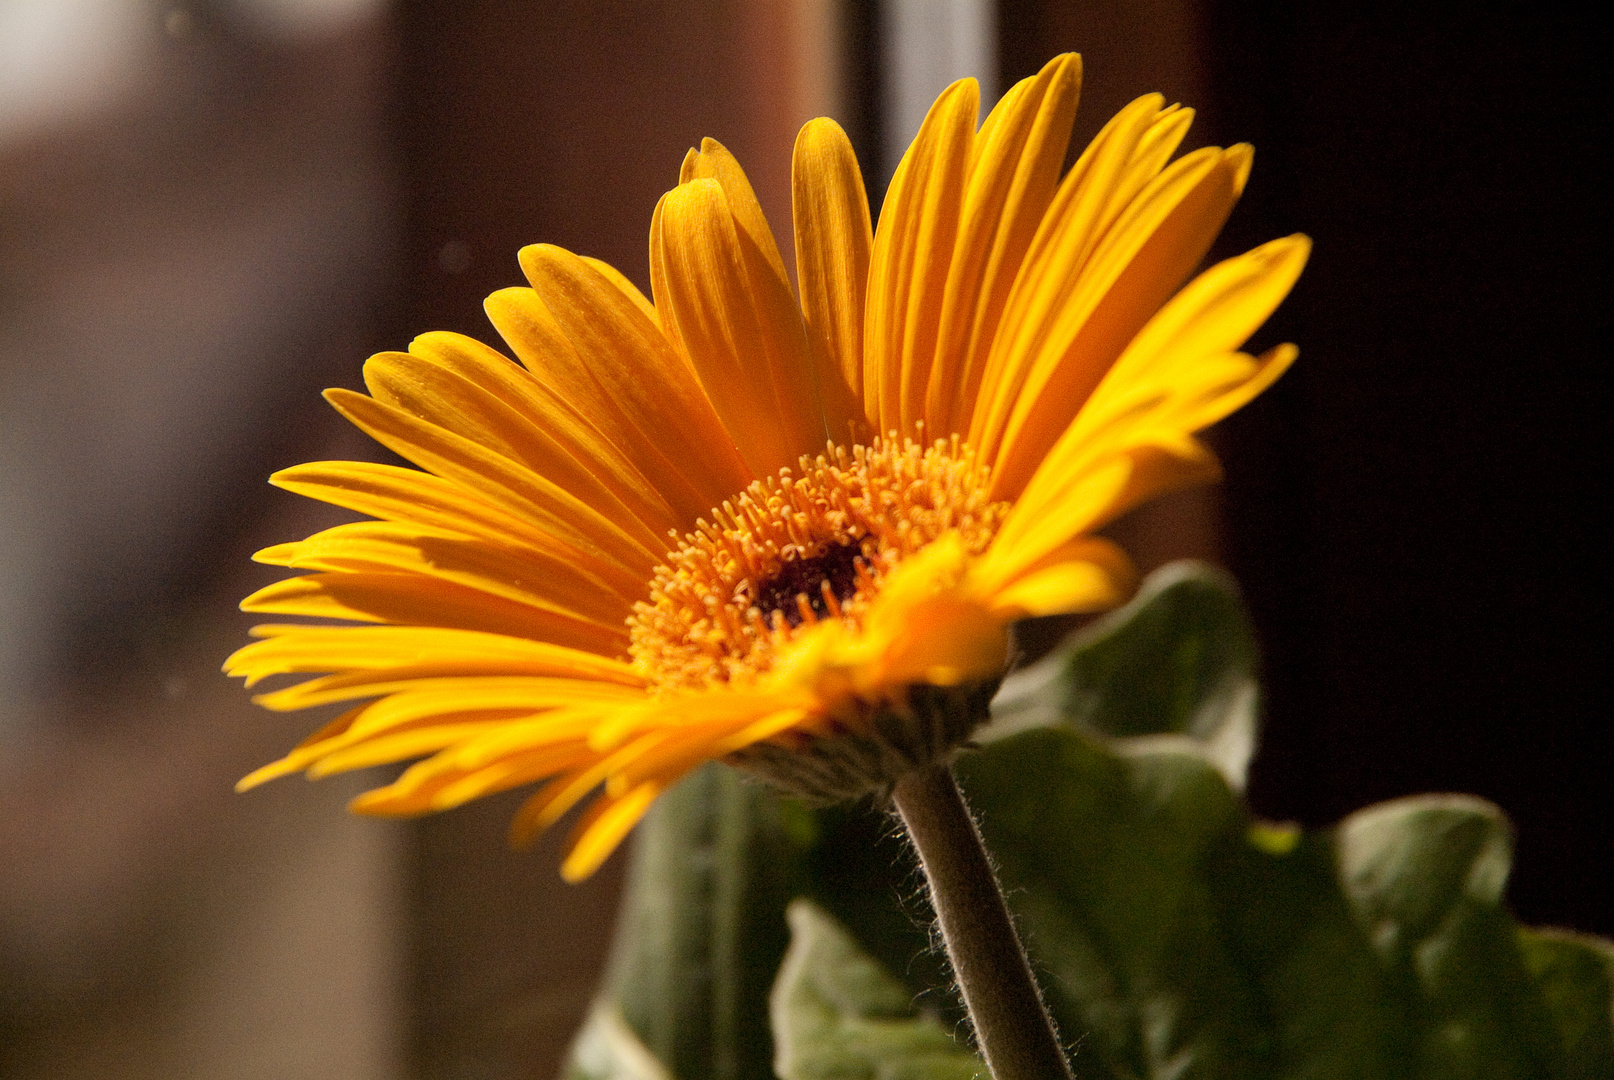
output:
[[781,1080],[975,1080],[980,1057],[834,919],[810,901],[789,907],[791,948],[773,985],[775,1069]]

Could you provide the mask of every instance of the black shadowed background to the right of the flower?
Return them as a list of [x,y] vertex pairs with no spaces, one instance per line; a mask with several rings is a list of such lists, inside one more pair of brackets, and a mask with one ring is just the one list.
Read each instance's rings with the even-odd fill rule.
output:
[[[1223,550],[1265,649],[1251,797],[1322,825],[1485,796],[1519,831],[1519,917],[1614,933],[1603,26],[1354,6],[1196,19],[1199,123],[1256,145],[1214,257],[1315,241],[1252,342],[1294,341],[1299,363],[1214,436]],[[1080,47],[1073,15],[1009,0],[1006,84]]]

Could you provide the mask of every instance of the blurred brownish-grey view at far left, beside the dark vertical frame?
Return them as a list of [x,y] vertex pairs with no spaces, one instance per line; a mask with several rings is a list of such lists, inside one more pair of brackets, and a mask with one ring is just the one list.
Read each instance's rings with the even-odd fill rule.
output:
[[389,1080],[400,833],[234,794],[312,720],[218,672],[391,287],[384,13],[0,15],[0,1075]]

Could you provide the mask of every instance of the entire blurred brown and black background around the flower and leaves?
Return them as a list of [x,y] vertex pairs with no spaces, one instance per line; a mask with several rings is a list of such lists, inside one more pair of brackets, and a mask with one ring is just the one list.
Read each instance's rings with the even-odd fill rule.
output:
[[615,862],[563,886],[508,799],[231,793],[318,722],[218,673],[276,576],[249,555],[339,520],[263,481],[379,460],[318,391],[491,339],[523,244],[647,286],[702,136],[788,229],[802,121],[843,119],[878,203],[947,81],[1064,50],[1078,145],[1148,90],[1199,108],[1188,145],[1256,144],[1214,257],[1317,241],[1254,342],[1301,363],[1212,436],[1228,483],[1117,526],[1248,592],[1256,810],[1474,791],[1520,919],[1614,933],[1601,40],[1535,5],[0,0],[0,1075],[552,1075]]

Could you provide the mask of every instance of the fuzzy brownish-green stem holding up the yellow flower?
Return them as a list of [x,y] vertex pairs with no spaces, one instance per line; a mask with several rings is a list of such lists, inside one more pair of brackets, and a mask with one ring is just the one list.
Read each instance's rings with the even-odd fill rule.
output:
[[930,881],[941,938],[993,1080],[1072,1080],[981,833],[946,765],[891,793]]

